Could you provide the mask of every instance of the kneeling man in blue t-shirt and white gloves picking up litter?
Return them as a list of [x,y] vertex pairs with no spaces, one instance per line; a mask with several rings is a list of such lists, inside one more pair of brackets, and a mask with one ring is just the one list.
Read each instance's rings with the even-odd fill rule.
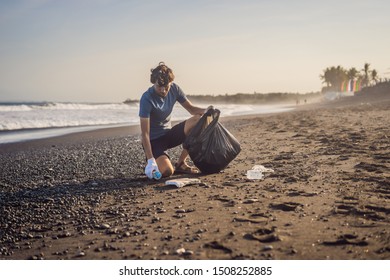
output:
[[[163,177],[171,176],[174,172],[199,173],[198,169],[186,163],[187,150],[183,149],[175,167],[166,151],[183,144],[201,116],[212,106],[207,109],[194,106],[181,88],[173,83],[175,76],[164,62],[160,62],[151,72],[150,82],[153,86],[142,95],[139,109],[142,146],[147,159],[145,175],[153,179],[154,172],[160,172]],[[176,102],[192,117],[171,127],[171,113]]]

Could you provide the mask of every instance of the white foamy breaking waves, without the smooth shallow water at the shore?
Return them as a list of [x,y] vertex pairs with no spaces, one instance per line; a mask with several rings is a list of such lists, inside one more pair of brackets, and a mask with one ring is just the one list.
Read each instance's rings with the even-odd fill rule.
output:
[[[207,107],[199,105],[200,107]],[[214,104],[221,117],[276,113],[288,107],[253,104]],[[96,125],[139,124],[139,104],[131,103],[31,103],[0,104],[0,131],[43,129]],[[172,121],[182,121],[190,114],[179,104],[172,112]]]

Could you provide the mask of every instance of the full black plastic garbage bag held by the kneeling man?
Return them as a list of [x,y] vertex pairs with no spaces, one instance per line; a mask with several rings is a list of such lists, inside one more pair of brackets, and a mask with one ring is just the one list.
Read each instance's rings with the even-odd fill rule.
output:
[[225,169],[241,151],[237,139],[219,123],[220,113],[217,109],[205,113],[183,143],[195,166],[205,174]]

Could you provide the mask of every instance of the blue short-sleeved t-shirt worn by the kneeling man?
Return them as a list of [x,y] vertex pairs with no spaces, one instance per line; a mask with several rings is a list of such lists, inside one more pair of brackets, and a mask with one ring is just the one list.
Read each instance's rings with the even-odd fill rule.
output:
[[167,96],[159,96],[154,86],[141,97],[139,117],[150,119],[150,140],[163,136],[171,128],[171,113],[176,101],[180,104],[187,100],[181,88],[172,83]]

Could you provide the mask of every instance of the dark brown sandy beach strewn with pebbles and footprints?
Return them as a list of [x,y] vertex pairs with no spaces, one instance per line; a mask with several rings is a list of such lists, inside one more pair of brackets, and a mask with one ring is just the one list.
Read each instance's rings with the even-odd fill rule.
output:
[[390,259],[389,99],[221,123],[241,153],[180,189],[137,127],[0,145],[0,259]]

